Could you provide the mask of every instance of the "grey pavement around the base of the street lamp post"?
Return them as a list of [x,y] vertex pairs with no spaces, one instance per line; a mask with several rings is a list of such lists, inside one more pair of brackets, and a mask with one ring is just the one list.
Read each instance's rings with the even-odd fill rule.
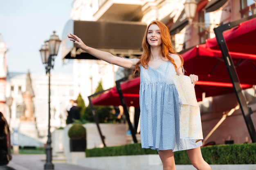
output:
[[[12,160],[9,162],[7,166],[14,168],[15,170],[44,170],[45,159],[46,159],[45,154],[12,155]],[[97,169],[85,168],[85,167],[66,164],[66,163],[55,163],[54,170],[97,170]]]

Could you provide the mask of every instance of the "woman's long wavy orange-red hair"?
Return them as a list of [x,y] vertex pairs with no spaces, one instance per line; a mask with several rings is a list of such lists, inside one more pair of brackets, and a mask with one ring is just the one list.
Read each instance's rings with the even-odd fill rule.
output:
[[[166,58],[166,60],[169,60],[170,62],[173,63],[175,70],[177,69],[177,66],[176,66],[173,58],[170,56],[170,53],[173,53],[173,54],[177,54],[177,53],[173,50],[169,29],[167,28],[167,26],[165,24],[163,24],[160,21],[152,21],[152,22],[150,22],[150,24],[148,25],[148,27],[145,31],[145,35],[142,40],[143,54],[140,57],[138,57],[140,60],[135,65],[135,71],[133,72],[133,76],[135,76],[135,74],[137,75],[137,73],[139,75],[139,73],[140,73],[139,66],[140,65],[143,66],[145,69],[148,68],[148,62],[149,62],[149,56],[150,56],[150,45],[148,44],[148,41],[147,41],[147,34],[148,34],[149,26],[153,25],[153,24],[156,24],[160,29],[160,34],[161,34],[161,38],[162,38],[162,45],[161,45],[162,46],[162,56],[164,56]],[[179,54],[177,54],[177,55],[179,55]],[[179,55],[179,56],[180,56],[180,60],[182,62],[181,66],[183,66],[184,60],[181,55]]]

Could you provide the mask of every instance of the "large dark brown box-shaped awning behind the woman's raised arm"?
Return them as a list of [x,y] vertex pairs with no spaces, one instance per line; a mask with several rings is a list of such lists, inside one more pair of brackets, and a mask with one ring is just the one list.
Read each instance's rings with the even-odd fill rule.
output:
[[141,55],[141,42],[147,25],[141,22],[74,21],[67,22],[62,36],[63,59],[96,59],[71,42],[67,35],[74,33],[95,49],[115,55]]

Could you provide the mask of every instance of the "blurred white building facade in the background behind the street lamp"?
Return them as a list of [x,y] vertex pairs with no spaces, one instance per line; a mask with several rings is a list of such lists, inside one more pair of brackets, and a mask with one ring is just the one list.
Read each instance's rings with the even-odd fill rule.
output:
[[[32,73],[31,82],[34,91],[33,103],[36,118],[36,128],[38,130],[38,139],[47,136],[48,130],[48,74]],[[27,73],[9,73],[6,84],[6,96],[12,96],[11,116],[7,111],[6,119],[9,122],[10,129],[19,128],[20,117],[24,114],[24,102],[22,93],[26,91]],[[70,99],[76,99],[74,96],[74,79],[72,74],[51,73],[50,86],[50,113],[51,113],[51,131],[55,128],[65,127],[67,112]],[[11,119],[10,119],[11,117]]]

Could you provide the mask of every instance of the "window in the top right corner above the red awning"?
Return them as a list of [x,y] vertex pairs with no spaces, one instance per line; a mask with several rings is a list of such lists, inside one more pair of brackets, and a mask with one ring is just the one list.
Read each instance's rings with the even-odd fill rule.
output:
[[240,13],[242,18],[256,14],[256,2],[254,0],[241,0]]

